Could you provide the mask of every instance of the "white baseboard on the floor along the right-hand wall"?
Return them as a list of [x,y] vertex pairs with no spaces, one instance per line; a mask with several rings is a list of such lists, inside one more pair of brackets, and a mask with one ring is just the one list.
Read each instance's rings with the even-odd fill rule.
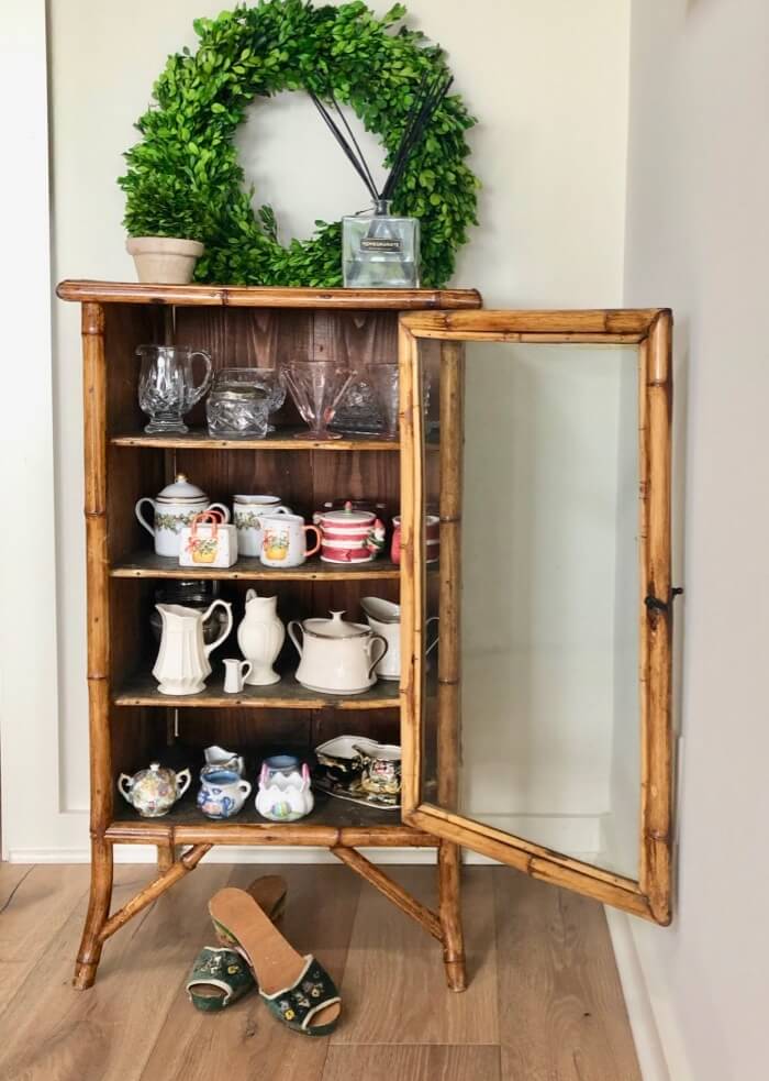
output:
[[606,922],[612,937],[614,957],[620,972],[627,1016],[633,1030],[640,1076],[644,1081],[679,1081],[671,1077],[665,1058],[659,1026],[655,1016],[649,989],[640,966],[631,928],[631,919],[625,912],[606,906]]

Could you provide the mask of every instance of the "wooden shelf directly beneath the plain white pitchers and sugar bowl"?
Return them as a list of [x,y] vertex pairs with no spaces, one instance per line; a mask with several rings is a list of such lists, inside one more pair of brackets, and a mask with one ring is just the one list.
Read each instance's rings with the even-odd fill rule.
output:
[[221,680],[211,680],[200,694],[160,694],[157,681],[147,673],[134,676],[114,695],[115,706],[175,706],[230,709],[390,709],[400,705],[395,681],[380,680],[363,694],[333,695],[308,691],[292,675],[269,687],[245,687],[241,694],[225,694]]

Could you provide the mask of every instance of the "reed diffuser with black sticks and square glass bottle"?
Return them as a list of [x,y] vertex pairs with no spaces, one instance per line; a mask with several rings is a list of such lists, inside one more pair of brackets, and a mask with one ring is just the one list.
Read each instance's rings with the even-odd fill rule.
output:
[[342,219],[342,274],[345,288],[419,288],[420,220],[393,217],[390,208],[412,152],[424,136],[452,82],[452,77],[443,73],[432,82],[427,77],[423,78],[414,93],[413,104],[392,156],[390,173],[381,190],[377,188],[366,158],[333,93],[327,97],[338,122],[320,98],[311,95],[315,108],[374,201],[369,213]]

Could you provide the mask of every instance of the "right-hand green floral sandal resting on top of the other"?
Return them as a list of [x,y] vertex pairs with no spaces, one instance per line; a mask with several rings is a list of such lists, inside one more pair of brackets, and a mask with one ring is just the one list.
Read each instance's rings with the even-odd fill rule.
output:
[[334,981],[311,953],[302,957],[244,890],[220,890],[209,902],[218,935],[236,944],[267,1008],[305,1036],[333,1033],[342,1012]]

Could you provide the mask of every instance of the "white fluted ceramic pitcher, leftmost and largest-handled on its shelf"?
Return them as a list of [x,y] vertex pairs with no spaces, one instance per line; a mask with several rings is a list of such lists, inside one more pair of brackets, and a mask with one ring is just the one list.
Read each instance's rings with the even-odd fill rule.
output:
[[[226,627],[210,646],[203,642],[203,624],[213,609],[220,606],[227,616]],[[155,605],[163,619],[160,650],[153,675],[160,684],[160,694],[199,694],[211,675],[209,654],[215,650],[232,630],[232,605],[216,598],[205,611],[183,608],[181,605]]]

